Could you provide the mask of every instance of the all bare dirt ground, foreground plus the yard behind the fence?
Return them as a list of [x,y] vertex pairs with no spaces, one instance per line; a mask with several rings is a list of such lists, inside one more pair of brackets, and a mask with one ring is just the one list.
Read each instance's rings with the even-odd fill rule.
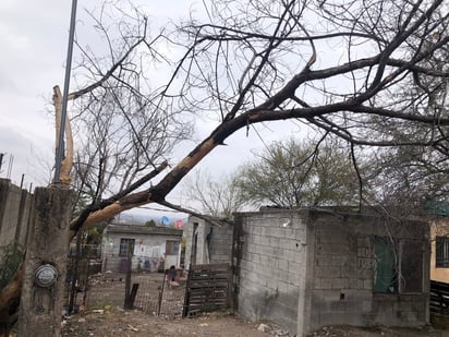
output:
[[[138,278],[139,277],[139,278]],[[138,276],[133,278],[141,282],[141,297],[136,301],[142,301],[142,296],[147,299],[155,298],[161,290],[160,275]],[[144,284],[144,280],[147,284]],[[181,282],[182,284],[182,282]],[[146,288],[144,287],[145,285]],[[182,285],[181,285],[182,287]],[[179,309],[180,301],[170,300],[171,305],[167,311],[157,316],[156,308],[139,308],[136,310],[122,309],[122,293],[124,289],[124,278],[122,276],[102,276],[94,279],[88,294],[86,296],[86,306],[81,312],[66,316],[63,322],[62,336],[198,336],[198,337],[292,337],[287,330],[282,330],[270,322],[248,322],[228,313],[208,313],[191,318],[181,318]],[[180,288],[174,292],[181,294]],[[182,289],[182,288],[181,288]],[[80,297],[82,298],[82,297]],[[165,302],[166,300],[162,300]],[[83,309],[83,306],[82,306]],[[163,305],[162,305],[163,309]],[[310,334],[308,336],[328,337],[449,337],[449,330],[435,329],[430,326],[423,328],[405,329],[376,326],[369,328],[357,328],[351,326],[327,326]]]

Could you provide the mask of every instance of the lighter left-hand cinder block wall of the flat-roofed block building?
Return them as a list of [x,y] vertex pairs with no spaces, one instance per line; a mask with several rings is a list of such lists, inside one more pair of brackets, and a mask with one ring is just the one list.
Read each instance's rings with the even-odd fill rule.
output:
[[238,311],[301,333],[305,298],[306,224],[301,213],[241,213],[242,251]]

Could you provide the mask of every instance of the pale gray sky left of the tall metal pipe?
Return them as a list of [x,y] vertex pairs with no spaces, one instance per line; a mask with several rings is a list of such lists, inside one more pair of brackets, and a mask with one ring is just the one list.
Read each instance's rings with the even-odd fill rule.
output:
[[63,81],[68,16],[68,1],[0,2],[0,177],[11,161],[11,180],[24,173],[25,186],[49,176],[40,164],[52,160],[54,131],[45,109]]

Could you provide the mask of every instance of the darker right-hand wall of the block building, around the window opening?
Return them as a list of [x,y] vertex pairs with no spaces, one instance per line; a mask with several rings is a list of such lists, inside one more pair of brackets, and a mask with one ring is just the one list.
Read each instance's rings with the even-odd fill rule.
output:
[[[307,275],[311,285],[307,330],[329,324],[366,326],[420,326],[428,323],[428,227],[422,222],[393,222],[380,217],[311,212],[314,263]],[[423,288],[406,293],[374,292],[375,237],[392,237],[401,261],[401,242],[421,243]],[[406,282],[406,279],[402,279]]]

